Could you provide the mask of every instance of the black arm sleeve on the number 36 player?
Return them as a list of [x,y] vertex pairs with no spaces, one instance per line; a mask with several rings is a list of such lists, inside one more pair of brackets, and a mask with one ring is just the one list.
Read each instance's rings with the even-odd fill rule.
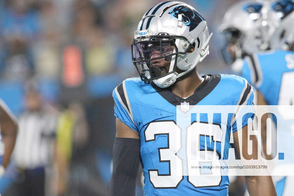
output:
[[115,138],[113,145],[113,170],[110,196],[136,195],[136,177],[140,162],[140,140]]

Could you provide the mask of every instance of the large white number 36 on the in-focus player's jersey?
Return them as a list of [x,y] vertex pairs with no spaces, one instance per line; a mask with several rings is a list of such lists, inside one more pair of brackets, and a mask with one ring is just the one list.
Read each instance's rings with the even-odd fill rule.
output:
[[[194,187],[216,187],[219,186],[222,180],[220,175],[220,169],[217,170],[209,170],[206,169],[205,173],[202,174],[213,174],[211,176],[202,175],[201,169],[195,169],[195,166],[201,165],[219,165],[218,161],[219,155],[216,151],[213,150],[204,150],[200,146],[200,137],[206,137],[207,132],[205,131],[205,126],[207,127],[207,123],[192,123],[191,126],[187,129],[187,140],[186,140],[186,151],[187,151],[187,160],[188,160],[188,174],[187,176],[188,182]],[[212,145],[215,142],[220,142],[221,140],[221,130],[219,125],[211,125],[213,130],[216,130],[212,136]],[[213,131],[212,131],[213,132]],[[154,188],[177,188],[181,181],[184,179],[183,176],[178,175],[177,169],[183,168],[182,160],[176,155],[176,153],[181,149],[181,129],[176,125],[174,121],[155,121],[148,125],[146,130],[144,131],[146,142],[156,140],[156,135],[167,135],[167,147],[158,148],[159,153],[159,162],[167,162],[169,163],[169,173],[168,174],[159,174],[158,170],[148,170],[149,171],[149,179]],[[209,140],[208,137],[206,137]],[[213,147],[212,147],[213,148]],[[191,156],[197,156],[201,161],[193,159]],[[213,156],[216,156],[217,160],[211,160]],[[205,158],[209,158],[210,160],[205,160]],[[191,166],[194,166],[192,169]],[[207,173],[207,171],[209,172]]]

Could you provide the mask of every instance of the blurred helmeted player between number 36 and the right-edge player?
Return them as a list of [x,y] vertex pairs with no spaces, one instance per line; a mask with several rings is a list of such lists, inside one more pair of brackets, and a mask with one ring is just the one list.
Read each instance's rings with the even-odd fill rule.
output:
[[[219,28],[225,38],[225,46],[220,50],[224,61],[231,66],[236,74],[249,82],[251,80],[248,80],[242,73],[245,59],[251,61],[255,53],[269,50],[269,40],[275,31],[273,25],[267,24],[263,28],[260,27],[263,21],[262,16],[265,16],[262,12],[266,11],[264,6],[268,7],[269,5],[268,1],[262,0],[237,2],[226,11],[223,23]],[[256,94],[257,92],[255,92]],[[258,104],[256,103],[257,96],[255,96],[254,102]],[[265,137],[262,138],[264,141]],[[263,148],[266,148],[265,142],[263,142]]]

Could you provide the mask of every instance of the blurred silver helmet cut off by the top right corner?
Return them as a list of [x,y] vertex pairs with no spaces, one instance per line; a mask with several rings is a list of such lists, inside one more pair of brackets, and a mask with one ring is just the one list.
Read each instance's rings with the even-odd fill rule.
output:
[[265,24],[275,28],[270,48],[289,50],[294,44],[294,0],[270,1],[263,18]]

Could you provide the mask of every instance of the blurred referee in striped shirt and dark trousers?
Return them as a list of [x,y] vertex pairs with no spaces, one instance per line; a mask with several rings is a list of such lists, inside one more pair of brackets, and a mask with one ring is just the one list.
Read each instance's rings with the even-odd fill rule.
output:
[[6,194],[41,196],[45,194],[45,168],[51,164],[58,115],[43,103],[33,85],[26,89],[25,107],[14,150],[19,175]]

